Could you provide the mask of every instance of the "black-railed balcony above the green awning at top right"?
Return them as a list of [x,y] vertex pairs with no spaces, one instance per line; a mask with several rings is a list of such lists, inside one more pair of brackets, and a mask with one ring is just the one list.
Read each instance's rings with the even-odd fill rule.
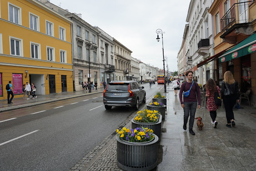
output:
[[221,38],[223,42],[235,44],[237,35],[253,34],[251,19],[248,15],[248,5],[252,1],[235,3],[221,19]]

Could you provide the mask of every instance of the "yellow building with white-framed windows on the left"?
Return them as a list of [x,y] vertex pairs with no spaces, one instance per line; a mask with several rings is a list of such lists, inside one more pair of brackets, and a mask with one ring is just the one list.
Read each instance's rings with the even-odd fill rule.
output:
[[71,25],[38,0],[0,0],[0,100],[9,81],[14,98],[26,82],[36,95],[73,91]]

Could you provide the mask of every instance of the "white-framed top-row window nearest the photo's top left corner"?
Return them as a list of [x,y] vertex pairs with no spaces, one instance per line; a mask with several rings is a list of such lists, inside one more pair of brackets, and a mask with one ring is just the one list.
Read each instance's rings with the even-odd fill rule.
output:
[[9,21],[16,23],[16,24],[21,24],[21,8],[10,4],[8,2],[8,6],[9,6]]

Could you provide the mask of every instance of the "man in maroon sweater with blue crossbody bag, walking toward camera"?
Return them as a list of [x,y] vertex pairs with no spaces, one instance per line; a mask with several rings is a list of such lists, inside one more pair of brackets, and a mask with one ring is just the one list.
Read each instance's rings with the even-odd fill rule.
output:
[[[183,124],[183,129],[187,130],[187,120],[190,114],[189,118],[189,133],[192,135],[195,135],[195,132],[193,132],[193,124],[195,120],[195,114],[197,108],[200,109],[201,107],[201,97],[200,97],[200,90],[199,86],[196,82],[192,80],[193,78],[193,72],[188,71],[186,73],[187,81],[182,83],[181,90],[179,93],[179,98],[181,102],[181,106],[184,110],[184,124]],[[185,97],[183,95],[183,92],[189,91],[189,95]],[[182,101],[182,95],[183,95],[183,101]],[[198,105],[197,105],[198,101]]]

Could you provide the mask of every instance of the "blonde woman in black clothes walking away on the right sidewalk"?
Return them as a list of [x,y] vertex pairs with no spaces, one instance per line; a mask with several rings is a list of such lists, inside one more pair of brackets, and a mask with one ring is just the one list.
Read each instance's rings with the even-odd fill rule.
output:
[[234,122],[233,107],[236,102],[239,102],[239,88],[238,83],[235,81],[233,74],[230,71],[224,73],[224,80],[222,81],[222,98],[226,110],[226,126],[231,127],[232,123],[232,126],[234,127],[236,124]]

